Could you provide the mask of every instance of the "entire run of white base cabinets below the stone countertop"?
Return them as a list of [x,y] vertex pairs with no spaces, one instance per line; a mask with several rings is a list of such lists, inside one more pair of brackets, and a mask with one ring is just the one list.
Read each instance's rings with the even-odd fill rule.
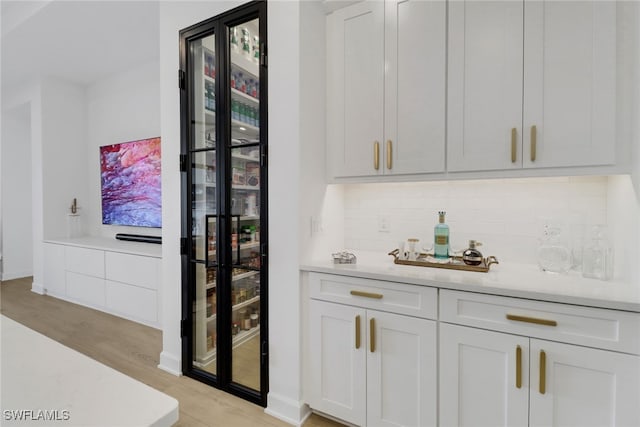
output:
[[306,277],[314,411],[358,426],[640,425],[639,313]]

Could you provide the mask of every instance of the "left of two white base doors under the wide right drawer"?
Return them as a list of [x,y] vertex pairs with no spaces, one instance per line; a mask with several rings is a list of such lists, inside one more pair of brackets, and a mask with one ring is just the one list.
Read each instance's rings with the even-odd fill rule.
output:
[[528,425],[528,342],[441,323],[440,425]]

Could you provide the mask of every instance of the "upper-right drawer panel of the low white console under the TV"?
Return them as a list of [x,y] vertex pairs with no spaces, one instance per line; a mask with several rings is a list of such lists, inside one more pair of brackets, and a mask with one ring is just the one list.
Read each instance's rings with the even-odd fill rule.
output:
[[158,289],[160,260],[158,258],[106,252],[106,278],[148,289]]

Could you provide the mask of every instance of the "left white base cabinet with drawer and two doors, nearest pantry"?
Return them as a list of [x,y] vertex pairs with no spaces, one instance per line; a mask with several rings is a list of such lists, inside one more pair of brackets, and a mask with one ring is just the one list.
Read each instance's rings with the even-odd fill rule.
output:
[[437,293],[312,275],[309,405],[359,426],[437,423]]

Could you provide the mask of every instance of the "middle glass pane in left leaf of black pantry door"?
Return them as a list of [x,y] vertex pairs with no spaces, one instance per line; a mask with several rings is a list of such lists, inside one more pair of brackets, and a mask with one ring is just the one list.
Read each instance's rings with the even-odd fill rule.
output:
[[206,261],[209,239],[205,236],[215,236],[215,227],[209,229],[207,216],[216,214],[216,152],[193,153],[192,159],[192,257]]

